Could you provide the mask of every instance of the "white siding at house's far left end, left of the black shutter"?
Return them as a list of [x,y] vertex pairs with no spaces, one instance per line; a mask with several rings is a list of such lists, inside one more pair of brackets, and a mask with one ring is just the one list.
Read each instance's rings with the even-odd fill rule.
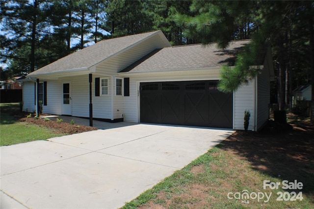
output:
[[35,105],[35,82],[23,83],[23,110],[28,112],[36,111]]

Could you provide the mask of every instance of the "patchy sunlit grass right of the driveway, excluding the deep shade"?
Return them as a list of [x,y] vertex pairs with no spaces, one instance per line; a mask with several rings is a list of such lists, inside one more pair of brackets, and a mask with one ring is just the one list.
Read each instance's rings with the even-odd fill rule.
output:
[[[260,136],[259,136],[260,137]],[[132,200],[122,209],[136,208],[169,208],[169,209],[185,209],[185,208],[269,208],[269,209],[285,209],[285,208],[314,208],[314,173],[313,162],[307,161],[307,165],[300,167],[292,167],[285,171],[282,168],[273,169],[257,169],[253,166],[254,162],[248,157],[247,153],[243,154],[235,152],[232,143],[235,141],[224,141],[213,149],[209,150],[205,155],[198,157],[182,170],[176,171],[172,176],[164,179]],[[247,142],[246,142],[247,143]],[[260,142],[259,142],[260,143]],[[255,144],[248,146],[256,146]],[[264,144],[265,145],[265,144]],[[243,145],[240,144],[242,147]],[[245,145],[244,145],[245,146]],[[250,150],[251,148],[247,148]],[[270,149],[273,149],[270,147]],[[255,151],[253,151],[253,155]],[[312,151],[310,151],[312,152]],[[254,157],[258,160],[269,162],[267,154],[263,154],[261,158],[259,154]],[[273,154],[269,154],[271,157]],[[281,155],[280,153],[278,155]],[[284,154],[285,155],[285,154]],[[271,158],[270,161],[276,158]],[[287,158],[290,159],[290,158]],[[259,162],[260,163],[260,162]],[[276,160],[274,165],[284,164],[287,167],[289,161]],[[292,163],[292,159],[291,159]],[[262,163],[261,163],[262,164]],[[265,163],[266,164],[266,163]],[[300,163],[302,164],[302,163]],[[270,166],[269,166],[270,167]],[[280,166],[277,166],[280,167]],[[292,173],[292,174],[291,174]],[[292,175],[292,176],[290,176]],[[293,176],[294,175],[294,176]],[[304,183],[301,190],[285,190],[282,188],[284,180]],[[263,181],[281,183],[278,189],[263,188]],[[255,192],[264,195],[263,199],[235,199],[235,194]],[[281,192],[289,192],[284,197],[291,197],[290,192],[302,192],[303,199],[296,201],[280,201]],[[232,193],[230,193],[232,192]],[[228,198],[228,193],[233,199]],[[265,196],[270,195],[269,201]],[[253,194],[254,197],[254,194]],[[296,196],[301,197],[301,196]],[[242,201],[243,200],[243,201]]]

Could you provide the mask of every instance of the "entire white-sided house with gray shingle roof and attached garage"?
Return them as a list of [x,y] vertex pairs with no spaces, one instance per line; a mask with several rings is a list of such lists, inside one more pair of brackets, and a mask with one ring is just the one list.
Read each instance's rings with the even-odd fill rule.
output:
[[221,66],[232,66],[247,43],[172,47],[160,30],[100,41],[28,74],[24,109],[42,100],[50,114],[235,130],[244,129],[250,110],[249,130],[257,131],[268,119],[270,49],[248,85],[230,94],[217,90]]

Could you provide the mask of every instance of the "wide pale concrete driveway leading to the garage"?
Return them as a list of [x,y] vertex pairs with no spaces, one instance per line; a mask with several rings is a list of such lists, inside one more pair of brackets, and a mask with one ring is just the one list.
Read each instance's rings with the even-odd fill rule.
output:
[[119,208],[234,132],[125,125],[1,147],[1,209]]

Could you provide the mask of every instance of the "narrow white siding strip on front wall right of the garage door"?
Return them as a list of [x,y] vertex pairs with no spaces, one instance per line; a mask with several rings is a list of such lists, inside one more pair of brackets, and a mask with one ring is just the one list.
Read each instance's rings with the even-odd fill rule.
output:
[[234,129],[244,130],[244,111],[251,113],[248,130],[255,129],[255,79],[234,93]]

